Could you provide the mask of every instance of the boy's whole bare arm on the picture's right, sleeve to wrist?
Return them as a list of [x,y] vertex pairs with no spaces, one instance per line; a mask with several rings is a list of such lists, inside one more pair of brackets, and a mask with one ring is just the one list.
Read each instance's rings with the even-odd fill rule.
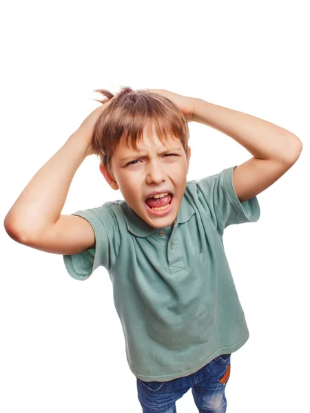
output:
[[291,132],[266,120],[193,100],[192,120],[230,136],[253,156],[234,169],[234,189],[240,202],[270,187],[298,160],[302,142]]

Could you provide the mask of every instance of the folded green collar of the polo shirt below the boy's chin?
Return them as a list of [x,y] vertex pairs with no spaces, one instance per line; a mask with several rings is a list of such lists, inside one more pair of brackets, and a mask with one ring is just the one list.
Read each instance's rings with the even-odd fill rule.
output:
[[[118,202],[123,209],[128,231],[137,237],[147,237],[148,235],[152,235],[155,231],[158,231],[158,228],[150,226],[147,222],[143,221],[142,218],[136,215],[134,210],[127,204],[126,201],[121,200]],[[178,215],[176,216],[176,224],[183,224],[184,222],[187,222],[194,213],[195,210],[187,198],[187,191],[185,189],[185,193],[180,203],[180,209],[178,210]]]

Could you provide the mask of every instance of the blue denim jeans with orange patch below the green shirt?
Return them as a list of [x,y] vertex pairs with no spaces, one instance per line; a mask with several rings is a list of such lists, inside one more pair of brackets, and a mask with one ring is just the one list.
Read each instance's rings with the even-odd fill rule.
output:
[[225,413],[225,387],[230,374],[231,354],[222,354],[189,376],[170,381],[136,378],[143,413],[176,413],[176,401],[190,388],[199,413]]

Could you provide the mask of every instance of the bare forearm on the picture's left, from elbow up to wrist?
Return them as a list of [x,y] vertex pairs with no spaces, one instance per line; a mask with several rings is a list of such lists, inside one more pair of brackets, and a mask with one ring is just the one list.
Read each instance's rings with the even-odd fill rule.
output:
[[12,237],[31,237],[60,217],[70,184],[85,157],[87,140],[76,131],[23,189],[4,220]]

